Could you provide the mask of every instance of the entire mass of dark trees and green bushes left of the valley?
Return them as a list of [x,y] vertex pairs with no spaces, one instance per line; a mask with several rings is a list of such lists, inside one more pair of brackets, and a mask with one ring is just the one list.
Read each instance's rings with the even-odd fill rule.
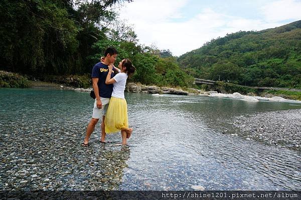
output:
[[[118,19],[113,7],[128,2],[131,0],[1,1],[0,69],[89,87],[86,74],[107,47],[115,47],[115,64],[129,58],[136,67],[132,81],[191,87],[192,75],[199,71],[188,75],[170,50],[138,45],[132,27]],[[7,84],[3,81],[3,85]]]

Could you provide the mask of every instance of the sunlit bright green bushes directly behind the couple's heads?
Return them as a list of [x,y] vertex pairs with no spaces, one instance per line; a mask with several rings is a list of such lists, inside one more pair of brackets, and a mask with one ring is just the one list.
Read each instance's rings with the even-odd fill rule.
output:
[[158,86],[181,86],[190,87],[193,77],[187,75],[177,64],[174,57],[161,58],[157,54],[153,54],[155,50],[147,47],[142,48],[132,42],[115,41],[115,40],[99,40],[93,45],[96,52],[89,59],[96,63],[103,56],[107,47],[114,47],[118,52],[115,64],[122,59],[129,58],[135,68],[135,74],[132,81],[140,82],[146,85]]

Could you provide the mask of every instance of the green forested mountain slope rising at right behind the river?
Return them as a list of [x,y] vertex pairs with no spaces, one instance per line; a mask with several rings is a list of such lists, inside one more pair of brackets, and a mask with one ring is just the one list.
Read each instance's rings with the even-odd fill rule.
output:
[[178,62],[196,78],[301,88],[301,21],[227,34],[180,56]]

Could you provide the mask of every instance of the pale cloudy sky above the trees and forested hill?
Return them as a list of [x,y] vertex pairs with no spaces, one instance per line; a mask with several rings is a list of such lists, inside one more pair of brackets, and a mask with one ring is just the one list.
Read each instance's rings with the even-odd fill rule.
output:
[[139,44],[180,56],[226,34],[301,20],[301,0],[133,0],[119,17]]

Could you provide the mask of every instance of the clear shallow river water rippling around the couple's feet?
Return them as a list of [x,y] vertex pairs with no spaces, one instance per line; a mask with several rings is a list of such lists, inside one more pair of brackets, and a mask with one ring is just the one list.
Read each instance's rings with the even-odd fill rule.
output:
[[[125,98],[129,123],[134,129],[128,147],[124,150],[114,146],[121,140],[119,134],[107,135],[112,144],[100,144],[97,126],[89,148],[83,150],[79,144],[93,106],[88,93],[0,89],[0,142],[9,147],[1,153],[4,158],[0,189],[30,189],[33,184],[39,186],[43,182],[43,177],[41,180],[29,178],[24,185],[19,183],[20,175],[15,175],[17,184],[14,185],[14,174],[7,171],[21,169],[22,163],[14,165],[20,158],[34,162],[47,160],[56,162],[60,168],[68,168],[71,171],[68,178],[73,182],[60,177],[60,171],[41,167],[40,176],[55,174],[63,182],[54,181],[51,184],[54,189],[172,190],[192,189],[192,185],[202,185],[207,190],[301,189],[300,152],[222,133],[237,116],[300,109],[301,104],[134,93],[126,93]],[[62,146],[56,146],[60,142]],[[31,145],[32,148],[28,148]],[[49,146],[56,150],[49,152],[46,150]],[[16,154],[15,161],[9,158]],[[43,158],[43,155],[47,156]],[[85,157],[86,162],[79,161],[81,157]],[[89,160],[93,161],[92,168]],[[108,166],[113,174],[107,177],[114,176],[114,187],[108,186],[112,181],[95,179],[97,173],[100,173],[97,177],[103,178],[101,173],[106,172],[102,169],[107,170]],[[31,169],[32,166],[28,167],[29,173]],[[82,173],[89,175],[82,176]],[[27,179],[26,173],[19,178]],[[91,182],[96,186],[89,187]]]

